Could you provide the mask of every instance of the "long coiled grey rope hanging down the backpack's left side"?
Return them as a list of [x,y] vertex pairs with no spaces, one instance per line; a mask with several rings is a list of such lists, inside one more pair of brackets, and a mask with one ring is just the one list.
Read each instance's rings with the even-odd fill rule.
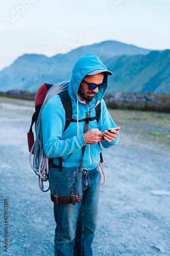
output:
[[[36,124],[36,139],[32,146],[31,152],[30,152],[30,165],[32,169],[34,170],[34,173],[39,177],[39,187],[43,192],[46,192],[50,189],[50,186],[47,190],[44,190],[43,181],[48,180],[48,158],[44,154],[43,149],[43,140],[42,140],[42,127],[41,127],[41,117],[42,112],[48,102],[48,100],[61,92],[64,92],[68,88],[69,82],[60,82],[55,84],[50,90],[48,90],[44,102],[41,106],[41,110],[39,113],[39,117]],[[32,153],[34,151],[34,157],[32,162]]]

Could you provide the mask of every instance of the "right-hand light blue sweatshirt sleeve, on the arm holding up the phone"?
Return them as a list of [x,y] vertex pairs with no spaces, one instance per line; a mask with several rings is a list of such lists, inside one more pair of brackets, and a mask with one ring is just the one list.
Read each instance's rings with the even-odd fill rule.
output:
[[[113,119],[111,118],[109,111],[107,110],[106,103],[104,100],[101,101],[101,116],[99,118],[98,129],[103,133],[105,130],[116,127]],[[115,140],[107,142],[105,139],[101,142],[103,147],[108,148],[116,145],[119,140],[119,132]]]

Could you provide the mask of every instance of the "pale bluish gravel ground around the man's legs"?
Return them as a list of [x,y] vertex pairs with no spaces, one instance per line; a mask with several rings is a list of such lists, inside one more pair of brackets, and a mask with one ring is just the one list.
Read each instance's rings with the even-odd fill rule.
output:
[[[54,255],[50,192],[40,191],[28,160],[31,110],[0,103],[1,255]],[[101,188],[93,255],[170,255],[169,136],[149,137],[146,131],[151,131],[152,122],[140,122],[143,117],[129,121],[127,115],[140,113],[128,113],[113,112],[122,130],[119,144],[103,153],[106,185]],[[121,115],[124,118],[118,119]],[[156,125],[159,130],[160,123]],[[169,123],[166,133],[168,129]],[[8,252],[3,247],[4,199],[8,199]]]

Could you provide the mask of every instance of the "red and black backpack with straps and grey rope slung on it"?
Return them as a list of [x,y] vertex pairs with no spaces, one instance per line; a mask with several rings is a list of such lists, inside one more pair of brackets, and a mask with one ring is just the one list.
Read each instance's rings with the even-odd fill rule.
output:
[[[34,170],[35,174],[39,176],[39,187],[43,192],[46,192],[50,189],[48,187],[47,190],[43,190],[43,181],[48,180],[48,167],[50,167],[51,164],[53,164],[53,159],[50,158],[50,160],[44,155],[43,151],[43,145],[42,145],[42,131],[41,131],[41,121],[38,119],[39,114],[42,115],[42,105],[44,106],[44,103],[47,103],[47,100],[52,97],[52,95],[59,95],[61,102],[63,104],[63,108],[65,110],[65,127],[63,132],[67,129],[70,122],[77,122],[77,120],[72,119],[72,104],[71,99],[67,91],[69,82],[61,82],[58,84],[49,84],[44,83],[41,87],[37,90],[37,93],[35,95],[35,113],[32,116],[32,122],[30,126],[30,131],[28,132],[28,146],[29,146],[29,152],[30,152],[30,165],[32,169]],[[92,121],[95,120],[98,122],[100,118],[101,113],[101,103],[99,103],[95,108],[96,116],[84,118],[82,120],[79,120],[79,122],[82,121]],[[88,119],[88,120],[87,120]],[[36,139],[34,141],[34,133],[32,131],[32,126],[35,122],[35,131],[36,131]],[[38,127],[37,127],[38,126]],[[36,129],[37,128],[37,129]],[[38,137],[40,136],[40,137]],[[99,142],[100,145],[100,142]],[[34,154],[35,152],[35,154]],[[34,155],[34,160],[32,163],[31,155]],[[104,174],[104,165],[103,165],[103,158],[102,153],[100,154],[101,161],[99,163],[100,168],[102,169],[102,173],[104,175],[104,183],[105,184],[105,174]],[[49,161],[48,161],[49,160]],[[59,162],[62,163],[62,158],[59,157]],[[101,172],[100,172],[100,178],[101,178]]]

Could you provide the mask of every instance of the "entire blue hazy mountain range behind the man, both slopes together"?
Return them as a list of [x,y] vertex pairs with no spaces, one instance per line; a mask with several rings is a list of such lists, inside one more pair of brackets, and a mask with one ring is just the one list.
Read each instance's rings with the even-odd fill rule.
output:
[[54,84],[69,80],[76,60],[89,52],[97,55],[113,72],[113,76],[109,77],[108,92],[169,91],[167,86],[170,79],[170,50],[152,51],[111,40],[82,46],[66,54],[52,57],[43,54],[23,54],[11,66],[0,71],[0,91],[36,92],[44,82]]

